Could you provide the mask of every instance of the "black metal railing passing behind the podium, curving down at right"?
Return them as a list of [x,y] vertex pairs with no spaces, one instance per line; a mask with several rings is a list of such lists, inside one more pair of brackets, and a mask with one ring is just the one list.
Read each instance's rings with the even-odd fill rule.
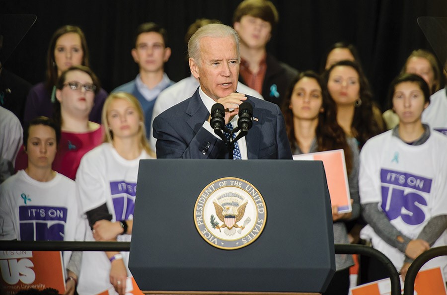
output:
[[[444,247],[447,250],[447,247]],[[0,250],[14,251],[129,251],[130,242],[71,242],[71,241],[1,241]],[[378,259],[390,273],[391,295],[400,295],[399,274],[392,262],[380,251],[364,245],[335,244],[336,254],[361,254]],[[415,260],[416,262],[417,260]],[[422,266],[423,264],[421,264]],[[413,267],[413,265],[412,265]],[[407,278],[412,267],[408,270]],[[420,267],[419,267],[420,268]],[[419,270],[418,268],[418,270]],[[416,272],[417,273],[417,272]],[[414,274],[416,277],[416,274]],[[413,278],[414,282],[414,278]],[[405,282],[406,285],[406,282]],[[411,293],[412,294],[412,293]]]

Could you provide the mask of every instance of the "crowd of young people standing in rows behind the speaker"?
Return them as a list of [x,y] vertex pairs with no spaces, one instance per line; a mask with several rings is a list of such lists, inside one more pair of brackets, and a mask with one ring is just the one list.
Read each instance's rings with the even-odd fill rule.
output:
[[[278,21],[270,1],[244,0],[236,8],[238,92],[281,107],[293,154],[343,149],[353,203],[351,213],[332,208],[334,242],[357,242],[350,230],[363,218],[360,237],[404,277],[418,255],[447,245],[447,88],[441,89],[438,62],[426,50],[412,52],[390,85],[390,109],[382,116],[354,45],[334,44],[320,73],[298,74],[266,50]],[[215,22],[193,24],[186,41]],[[151,123],[199,86],[194,76],[174,84],[164,73],[171,49],[159,25],[140,25],[134,46],[139,74],[108,95],[88,68],[81,29],[64,26],[53,34],[46,80],[31,88],[19,118],[23,146],[15,152],[20,144],[14,140],[0,147],[17,153],[4,164],[1,159],[7,169],[0,178],[0,239],[130,241],[139,161],[156,158]],[[0,126],[10,138],[21,136],[20,128]],[[12,164],[16,174],[10,176]],[[63,217],[57,225],[50,217],[33,219],[25,216],[30,207],[60,210]],[[32,227],[31,221],[48,224]],[[67,294],[98,294],[110,286],[125,294],[127,262],[125,252],[64,253]],[[353,264],[350,255],[336,255],[336,274],[324,294],[348,294]],[[430,265],[447,271],[444,258]],[[383,274],[369,265],[369,280]]]

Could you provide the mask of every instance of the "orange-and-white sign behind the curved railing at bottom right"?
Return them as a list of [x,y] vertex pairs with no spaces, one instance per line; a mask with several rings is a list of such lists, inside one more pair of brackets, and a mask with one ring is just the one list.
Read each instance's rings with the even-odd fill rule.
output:
[[[400,286],[404,283],[401,281]],[[417,295],[447,295],[446,284],[441,268],[421,270],[414,281],[414,294]],[[391,282],[383,279],[373,283],[361,285],[351,289],[352,295],[389,295],[391,293]]]

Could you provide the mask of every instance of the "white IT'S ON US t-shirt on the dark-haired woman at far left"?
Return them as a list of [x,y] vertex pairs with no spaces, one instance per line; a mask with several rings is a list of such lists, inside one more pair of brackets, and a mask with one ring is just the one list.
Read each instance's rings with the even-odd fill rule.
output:
[[[57,173],[48,181],[31,178],[24,170],[0,186],[0,240],[83,240],[76,184]],[[71,252],[64,252],[67,265]]]

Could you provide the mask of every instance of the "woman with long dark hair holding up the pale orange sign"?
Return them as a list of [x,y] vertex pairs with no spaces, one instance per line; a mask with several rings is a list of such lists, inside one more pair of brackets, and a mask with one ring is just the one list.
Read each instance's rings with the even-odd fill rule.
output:
[[[349,244],[344,221],[356,219],[360,214],[358,169],[359,150],[356,141],[345,135],[337,123],[337,109],[328,97],[325,84],[311,72],[299,74],[289,87],[283,105],[283,114],[289,142],[294,154],[343,149],[351,198],[352,212],[339,213],[332,207],[334,242]],[[336,255],[336,273],[324,293],[348,294],[349,267],[353,265],[350,255]]]

